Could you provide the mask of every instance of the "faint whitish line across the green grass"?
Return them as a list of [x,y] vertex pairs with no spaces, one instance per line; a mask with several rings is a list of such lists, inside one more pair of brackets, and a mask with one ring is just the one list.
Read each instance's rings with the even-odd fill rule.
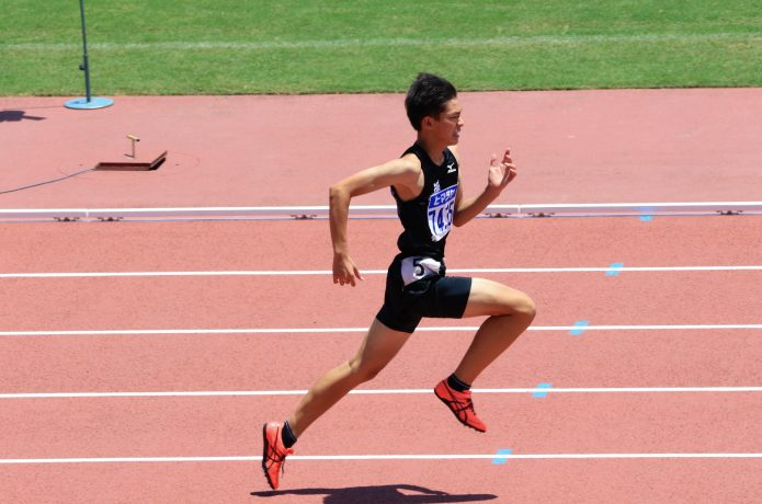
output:
[[[757,33],[653,33],[653,34],[599,34],[599,35],[530,35],[504,36],[489,38],[339,38],[332,41],[219,41],[219,42],[153,42],[153,43],[93,43],[91,49],[95,50],[278,50],[278,49],[331,49],[331,48],[361,48],[361,47],[526,47],[526,46],[567,46],[603,43],[696,43],[721,41],[757,41]],[[71,50],[76,44],[66,43],[4,43],[0,44],[0,50]]]

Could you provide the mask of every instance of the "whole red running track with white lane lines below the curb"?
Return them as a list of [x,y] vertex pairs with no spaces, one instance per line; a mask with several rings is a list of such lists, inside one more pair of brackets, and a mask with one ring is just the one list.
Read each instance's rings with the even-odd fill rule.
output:
[[451,271],[539,308],[476,383],[489,432],[429,391],[479,320],[428,321],[266,491],[261,424],[354,352],[383,293],[398,225],[350,227],[354,289],[325,273],[325,220],[1,225],[3,500],[759,501],[757,216],[457,229]]

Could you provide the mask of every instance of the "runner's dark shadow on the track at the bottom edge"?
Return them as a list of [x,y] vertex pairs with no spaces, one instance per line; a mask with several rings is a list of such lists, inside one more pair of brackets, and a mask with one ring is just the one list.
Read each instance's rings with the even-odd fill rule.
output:
[[[405,492],[405,493],[403,493]],[[492,501],[497,495],[470,493],[453,495],[437,490],[424,489],[412,484],[387,484],[379,486],[352,486],[349,489],[297,489],[276,490],[269,492],[251,492],[255,497],[276,497],[286,495],[326,495],[325,504],[424,504],[445,502],[477,502]],[[277,501],[275,501],[277,502]],[[285,502],[285,501],[283,501]]]

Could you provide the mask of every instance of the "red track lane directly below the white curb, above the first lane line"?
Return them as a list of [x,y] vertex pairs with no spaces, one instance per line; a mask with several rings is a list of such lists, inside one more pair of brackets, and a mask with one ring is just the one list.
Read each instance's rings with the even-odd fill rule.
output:
[[[361,268],[397,253],[395,220],[350,221]],[[760,264],[762,217],[476,219],[451,267]],[[295,240],[308,244],[295,247]],[[0,224],[0,273],[330,270],[328,221]],[[30,251],[34,251],[31,254]]]

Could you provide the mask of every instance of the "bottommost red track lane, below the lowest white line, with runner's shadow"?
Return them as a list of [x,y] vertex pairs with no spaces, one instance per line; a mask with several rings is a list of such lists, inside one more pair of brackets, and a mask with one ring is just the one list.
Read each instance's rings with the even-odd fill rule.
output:
[[13,502],[52,503],[376,504],[440,492],[442,502],[752,504],[762,492],[760,470],[760,460],[293,460],[281,490],[271,492],[251,462],[14,466],[0,471],[0,486]]

